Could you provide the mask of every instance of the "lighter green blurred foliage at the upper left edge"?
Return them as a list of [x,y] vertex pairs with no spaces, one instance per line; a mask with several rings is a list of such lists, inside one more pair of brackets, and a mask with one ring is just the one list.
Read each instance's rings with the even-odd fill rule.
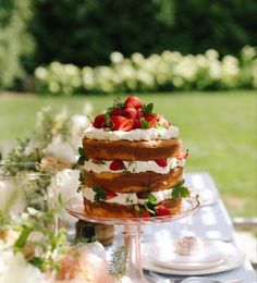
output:
[[[29,0],[1,0],[0,4],[0,88],[10,88],[24,77],[24,63],[34,50],[27,33],[32,16]],[[23,61],[23,64],[22,64]]]

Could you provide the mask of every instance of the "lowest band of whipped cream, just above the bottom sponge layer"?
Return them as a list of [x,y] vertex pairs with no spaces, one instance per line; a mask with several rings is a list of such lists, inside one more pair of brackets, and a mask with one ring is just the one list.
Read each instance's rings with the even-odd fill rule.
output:
[[[151,192],[150,194],[157,198],[157,204],[163,201],[166,199],[171,198],[172,188],[159,190],[159,192]],[[83,187],[82,195],[84,198],[90,200],[91,202],[95,201],[96,193],[90,187]],[[101,200],[109,204],[119,204],[123,206],[130,205],[145,205],[147,199],[138,198],[135,193],[117,193],[117,196],[111,199]]]

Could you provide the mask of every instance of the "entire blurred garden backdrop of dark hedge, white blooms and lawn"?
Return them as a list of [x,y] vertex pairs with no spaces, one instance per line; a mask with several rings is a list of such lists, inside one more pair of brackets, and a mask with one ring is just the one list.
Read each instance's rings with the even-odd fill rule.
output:
[[257,2],[2,0],[0,151],[44,106],[94,113],[136,93],[179,125],[187,171],[256,216]]

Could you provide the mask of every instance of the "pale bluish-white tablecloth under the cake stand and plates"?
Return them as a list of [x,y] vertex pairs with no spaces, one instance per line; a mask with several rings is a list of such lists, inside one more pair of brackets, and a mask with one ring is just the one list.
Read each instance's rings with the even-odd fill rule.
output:
[[[186,184],[199,190],[199,195],[205,189],[210,190],[213,196],[217,196],[216,202],[210,206],[200,207],[196,213],[184,218],[180,221],[164,224],[149,224],[143,225],[142,242],[158,241],[171,237],[180,237],[188,231],[193,232],[195,236],[201,238],[215,238],[231,241],[235,243],[235,231],[232,225],[228,211],[220,198],[219,192],[215,185],[211,176],[206,172],[187,173],[185,174]],[[114,245],[122,243],[121,227],[117,229],[117,238]],[[182,278],[175,275],[166,275],[167,278]],[[205,275],[206,276],[206,275]],[[208,278],[216,279],[242,279],[245,283],[256,282],[256,274],[249,260],[236,269],[210,274]]]

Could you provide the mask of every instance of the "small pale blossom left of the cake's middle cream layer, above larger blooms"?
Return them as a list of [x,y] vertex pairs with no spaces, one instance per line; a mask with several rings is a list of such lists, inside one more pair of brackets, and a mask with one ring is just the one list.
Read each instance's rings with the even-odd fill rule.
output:
[[49,144],[46,148],[46,155],[50,155],[63,163],[76,163],[75,152],[68,143]]

